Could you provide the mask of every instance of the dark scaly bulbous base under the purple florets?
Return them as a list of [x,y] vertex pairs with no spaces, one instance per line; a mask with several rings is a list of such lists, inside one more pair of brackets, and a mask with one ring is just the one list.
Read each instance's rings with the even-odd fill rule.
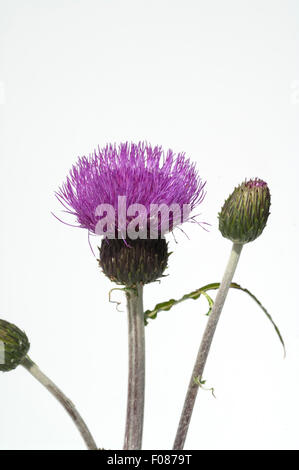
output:
[[168,250],[164,238],[102,240],[99,265],[113,282],[127,287],[147,284],[162,276]]

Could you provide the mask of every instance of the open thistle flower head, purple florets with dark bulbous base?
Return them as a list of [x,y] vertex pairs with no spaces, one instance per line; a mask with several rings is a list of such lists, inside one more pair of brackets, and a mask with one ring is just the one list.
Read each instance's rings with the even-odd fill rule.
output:
[[56,196],[78,227],[104,236],[104,273],[115,282],[134,285],[162,275],[168,259],[164,235],[192,220],[190,213],[202,202],[204,187],[184,153],[164,153],[162,147],[144,142],[121,143],[79,158]]

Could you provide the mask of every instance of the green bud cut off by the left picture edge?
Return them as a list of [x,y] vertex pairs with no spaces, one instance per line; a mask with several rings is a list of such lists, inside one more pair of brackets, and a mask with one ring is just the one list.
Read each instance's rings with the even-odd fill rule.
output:
[[20,365],[29,347],[23,331],[12,323],[0,320],[0,371],[8,372]]

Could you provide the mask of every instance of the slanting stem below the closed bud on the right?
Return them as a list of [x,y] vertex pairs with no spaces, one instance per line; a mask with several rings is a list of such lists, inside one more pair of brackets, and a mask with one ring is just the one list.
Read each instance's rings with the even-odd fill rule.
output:
[[216,326],[228,293],[228,289],[230,283],[232,282],[240,254],[242,251],[243,245],[238,243],[234,243],[232,247],[232,251],[230,254],[230,258],[228,260],[228,264],[226,266],[226,270],[220,284],[219,290],[217,292],[217,296],[215,299],[215,303],[212,308],[212,312],[209,316],[209,320],[201,341],[201,345],[198,351],[198,355],[196,358],[196,362],[193,368],[191,380],[189,383],[189,388],[187,391],[187,395],[185,398],[185,403],[183,407],[183,411],[181,414],[181,419],[179,422],[179,427],[177,430],[177,434],[174,441],[173,449],[183,449],[189,424],[191,421],[191,416],[193,412],[194,403],[196,400],[197,392],[199,384],[196,381],[200,381],[202,379],[202,374],[204,371],[204,367],[208,358],[208,354],[210,351],[211,343],[213,340],[213,336],[216,330]]

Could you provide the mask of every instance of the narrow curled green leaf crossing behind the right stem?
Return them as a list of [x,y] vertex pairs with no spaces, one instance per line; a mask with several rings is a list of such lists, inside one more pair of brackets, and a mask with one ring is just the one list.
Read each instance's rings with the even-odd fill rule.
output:
[[[193,299],[193,300],[196,300],[198,299],[201,295],[204,295],[206,297],[206,299],[208,300],[208,304],[209,304],[209,311],[207,313],[207,315],[209,315],[212,311],[212,307],[213,307],[213,300],[212,298],[207,294],[207,291],[209,290],[216,290],[216,289],[219,289],[219,286],[220,286],[220,282],[213,282],[211,284],[207,284],[203,287],[201,287],[200,289],[197,289],[197,290],[194,290],[192,292],[190,292],[189,294],[185,294],[183,295],[183,297],[181,297],[180,299],[170,299],[168,300],[167,302],[161,302],[159,304],[157,304],[155,306],[155,308],[153,310],[146,310],[146,312],[144,312],[144,321],[145,321],[145,324],[147,324],[147,320],[148,319],[155,319],[157,318],[157,315],[159,312],[162,312],[162,311],[168,311],[170,310],[172,307],[174,307],[175,305],[178,305],[180,304],[181,302],[184,302],[185,300],[188,300],[188,299]],[[283,346],[283,350],[284,350],[284,356],[286,354],[286,349],[285,349],[285,343],[284,343],[284,340],[281,336],[281,333],[279,331],[279,328],[278,326],[276,325],[276,323],[274,322],[273,318],[271,317],[270,313],[265,309],[265,307],[262,305],[262,303],[257,299],[257,297],[255,295],[252,294],[252,292],[250,292],[248,289],[245,289],[244,287],[241,287],[239,284],[237,284],[236,282],[232,282],[231,285],[230,285],[231,288],[233,289],[238,289],[238,290],[241,290],[243,292],[245,292],[246,294],[248,294],[257,304],[258,306],[263,310],[264,314],[266,315],[266,317],[268,318],[268,320],[272,323],[272,326],[274,327],[276,333],[277,333],[277,336]]]

